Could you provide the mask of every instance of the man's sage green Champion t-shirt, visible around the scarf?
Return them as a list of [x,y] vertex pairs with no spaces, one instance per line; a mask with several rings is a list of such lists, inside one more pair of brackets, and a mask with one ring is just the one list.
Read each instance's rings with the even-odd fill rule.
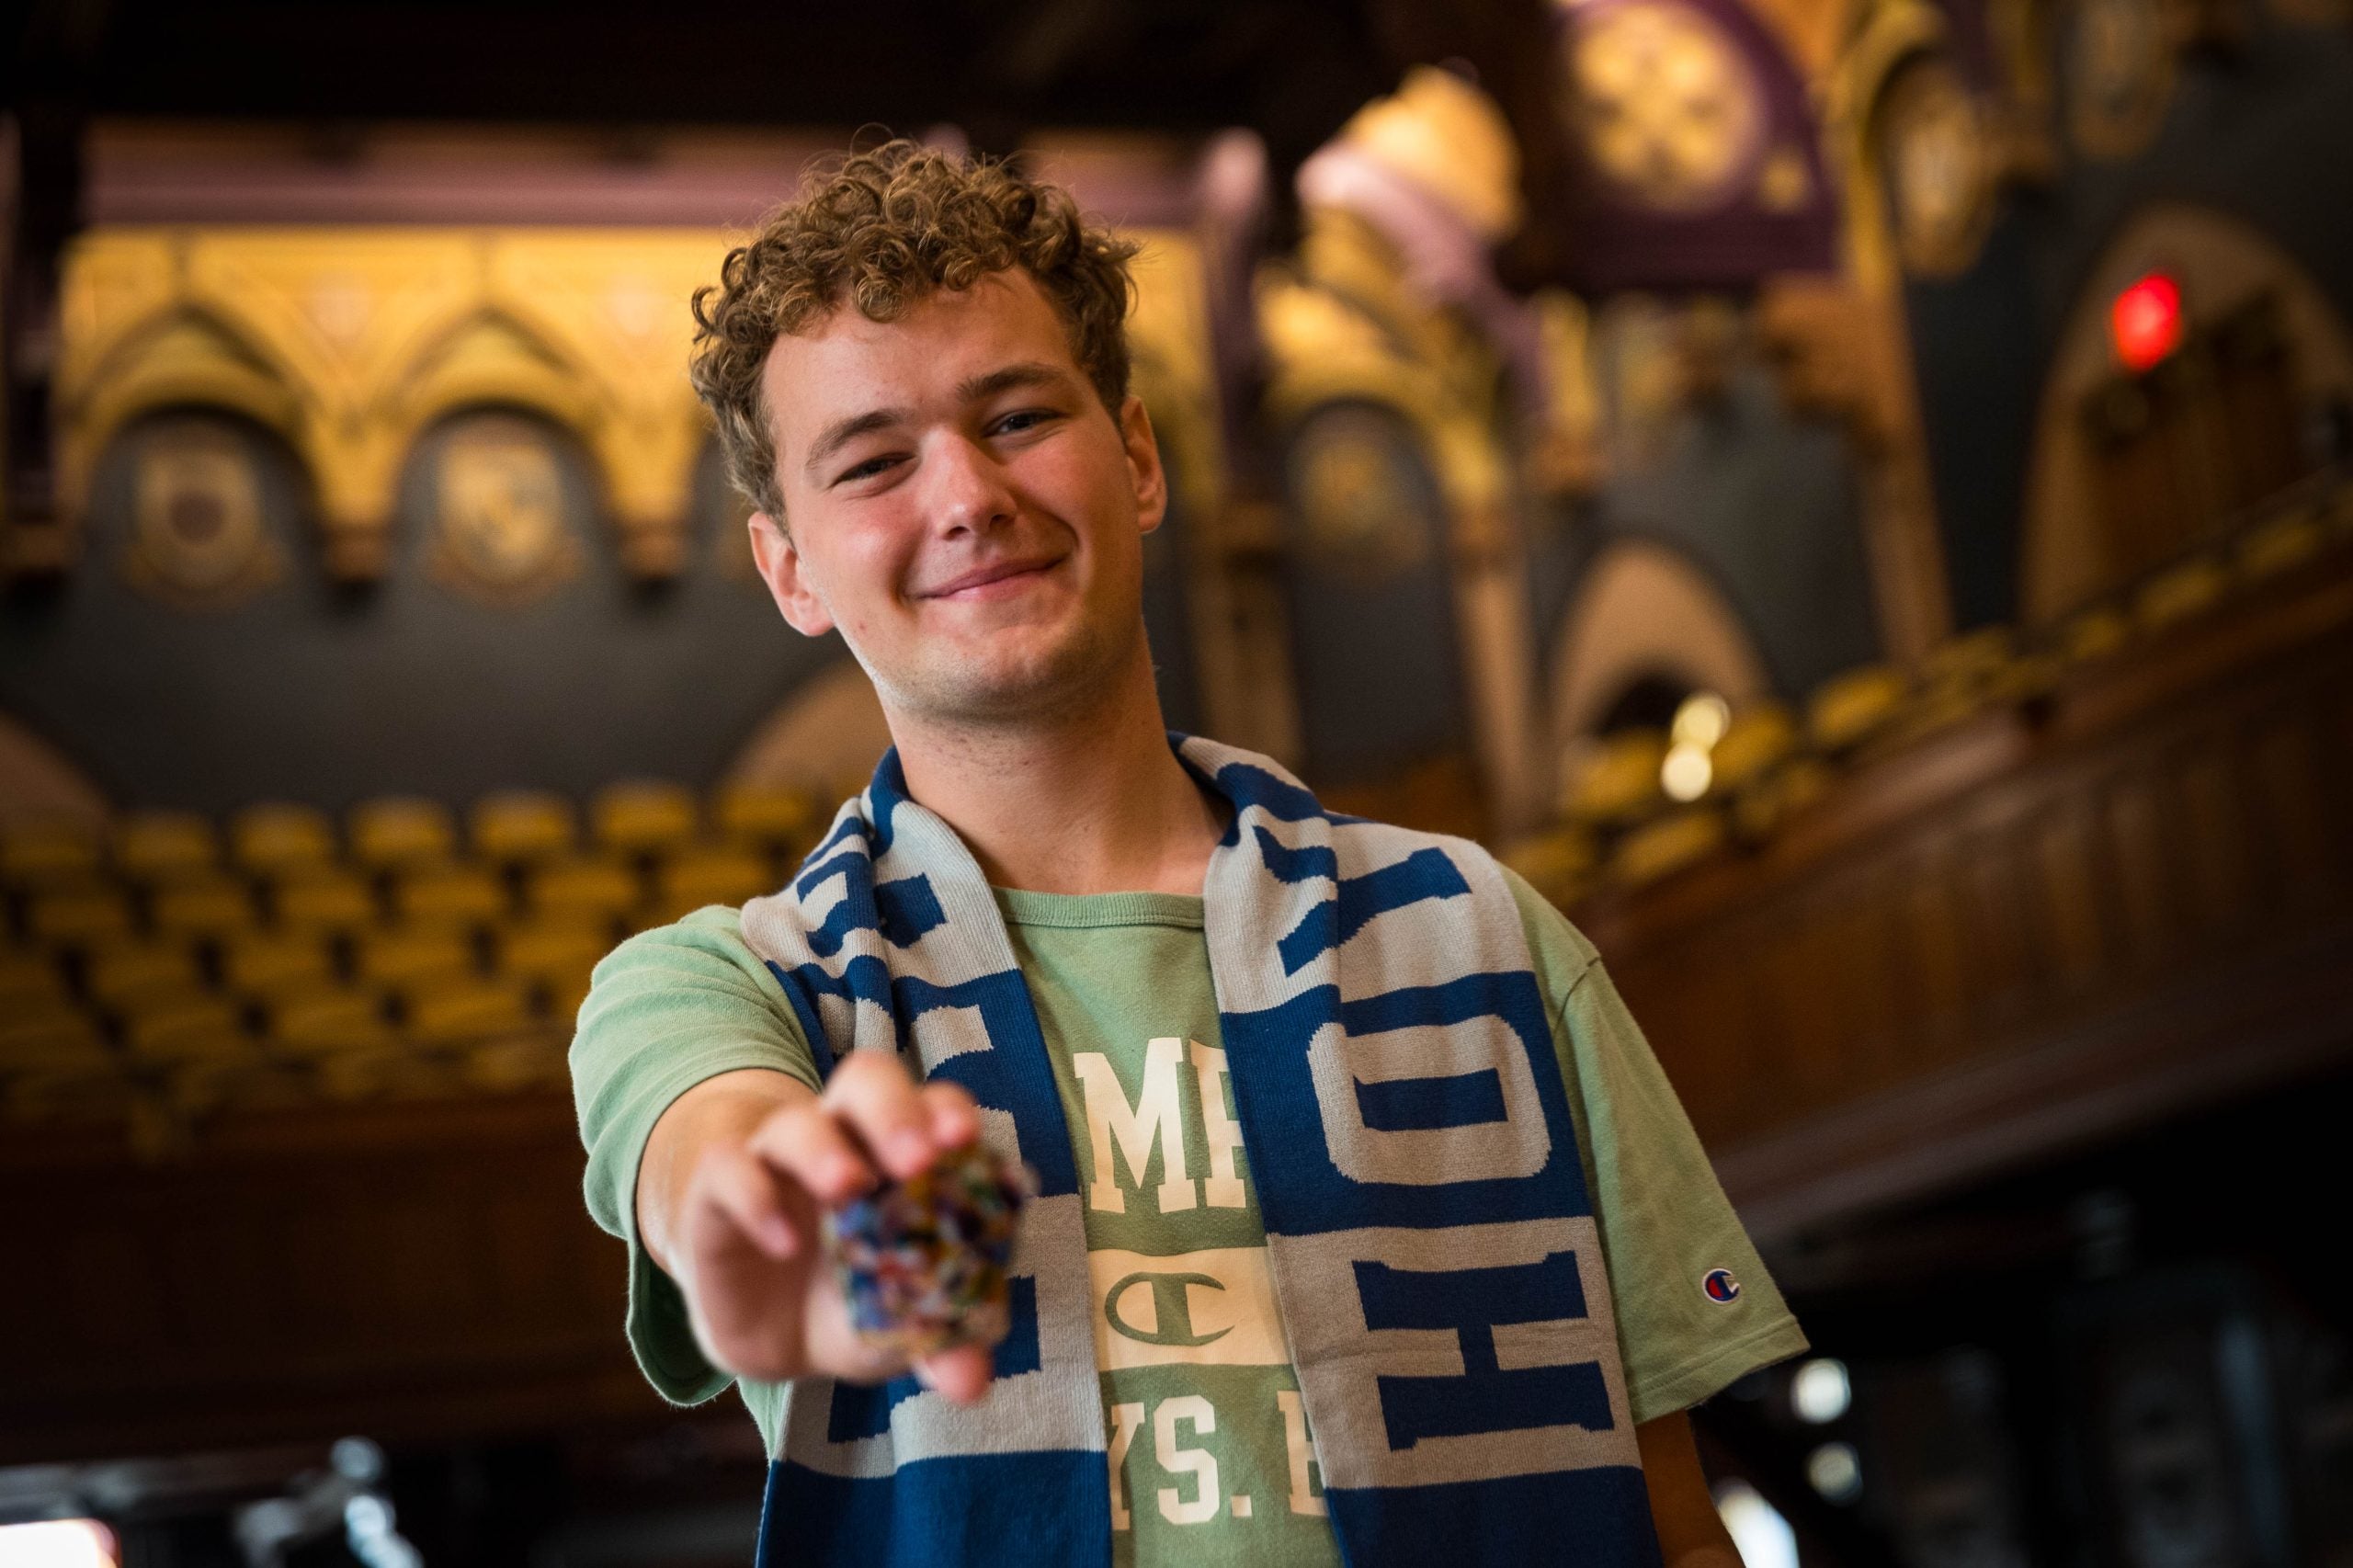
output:
[[[1551,1001],[1626,1394],[1645,1422],[1798,1354],[1805,1335],[1593,946],[1525,881],[1506,881]],[[1078,1156],[1113,1561],[1337,1563],[1226,1081],[1202,902],[1000,888],[998,909]],[[793,1008],[734,909],[631,937],[598,965],[572,1041],[588,1208],[631,1245],[628,1340],[678,1403],[729,1377],[701,1356],[678,1288],[638,1245],[638,1161],[678,1095],[744,1067],[816,1085]],[[1729,1302],[1706,1288],[1718,1269],[1741,1283]],[[741,1389],[776,1453],[781,1387]]]

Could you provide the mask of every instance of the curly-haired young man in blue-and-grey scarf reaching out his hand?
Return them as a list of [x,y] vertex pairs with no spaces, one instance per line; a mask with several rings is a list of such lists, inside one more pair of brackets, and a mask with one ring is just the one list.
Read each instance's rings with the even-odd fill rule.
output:
[[[1127,254],[892,144],[696,299],[760,572],[896,746],[791,888],[598,968],[631,1344],[741,1387],[772,1563],[1732,1566],[1682,1413],[1805,1340],[1593,949],[1162,730]],[[906,1368],[819,1217],[976,1137],[1040,1177],[1012,1330]]]

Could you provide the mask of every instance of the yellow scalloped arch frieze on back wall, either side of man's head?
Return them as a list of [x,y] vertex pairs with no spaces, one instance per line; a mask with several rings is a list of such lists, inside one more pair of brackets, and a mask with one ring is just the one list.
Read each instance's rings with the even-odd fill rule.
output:
[[[64,261],[56,492],[78,520],[99,452],[160,407],[233,410],[294,450],[327,570],[379,577],[419,436],[508,405],[567,428],[624,570],[685,567],[711,426],[687,384],[687,297],[718,278],[718,228],[96,228]],[[1214,426],[1200,259],[1151,233],[1132,320],[1153,414]],[[1146,377],[1151,367],[1153,377]],[[1188,440],[1212,483],[1217,440]]]

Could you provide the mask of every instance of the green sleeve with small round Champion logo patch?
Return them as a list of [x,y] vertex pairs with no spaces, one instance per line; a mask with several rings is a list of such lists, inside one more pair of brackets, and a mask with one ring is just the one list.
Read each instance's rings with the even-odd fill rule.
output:
[[1633,1420],[1687,1410],[1800,1354],[1805,1333],[1593,944],[1506,876],[1555,1008],[1553,1048],[1609,1267]]

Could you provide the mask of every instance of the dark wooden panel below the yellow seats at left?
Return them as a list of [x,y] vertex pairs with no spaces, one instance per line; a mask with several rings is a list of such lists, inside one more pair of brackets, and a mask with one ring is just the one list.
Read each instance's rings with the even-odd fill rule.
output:
[[0,1462],[656,1410],[581,1161],[560,1097],[9,1149]]

